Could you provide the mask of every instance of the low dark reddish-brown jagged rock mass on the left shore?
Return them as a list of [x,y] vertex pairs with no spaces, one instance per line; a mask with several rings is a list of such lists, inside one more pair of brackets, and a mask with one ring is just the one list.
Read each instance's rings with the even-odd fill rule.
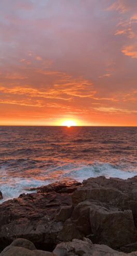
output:
[[52,250],[63,223],[56,220],[62,206],[72,205],[68,193],[30,193],[0,205],[0,245],[26,238],[38,249]]

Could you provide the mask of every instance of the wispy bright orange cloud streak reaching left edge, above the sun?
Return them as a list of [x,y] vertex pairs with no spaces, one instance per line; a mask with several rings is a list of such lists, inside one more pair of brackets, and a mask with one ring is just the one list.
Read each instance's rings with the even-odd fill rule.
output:
[[[58,79],[58,83],[53,83],[52,88],[50,87],[43,90],[34,89],[29,86],[16,86],[11,88],[0,87],[0,91],[8,94],[29,95],[30,97],[61,99],[65,101],[70,101],[73,99],[73,97],[92,97],[96,93],[96,91],[93,89],[93,84],[81,77],[73,79],[71,76],[57,71],[36,70],[36,72],[40,72],[46,76],[55,76],[56,79]],[[12,78],[17,77],[13,76]]]

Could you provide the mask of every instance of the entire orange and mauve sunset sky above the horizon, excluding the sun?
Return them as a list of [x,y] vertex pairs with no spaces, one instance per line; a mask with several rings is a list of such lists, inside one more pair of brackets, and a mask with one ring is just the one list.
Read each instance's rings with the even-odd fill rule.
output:
[[0,125],[137,126],[136,0],[0,0]]

